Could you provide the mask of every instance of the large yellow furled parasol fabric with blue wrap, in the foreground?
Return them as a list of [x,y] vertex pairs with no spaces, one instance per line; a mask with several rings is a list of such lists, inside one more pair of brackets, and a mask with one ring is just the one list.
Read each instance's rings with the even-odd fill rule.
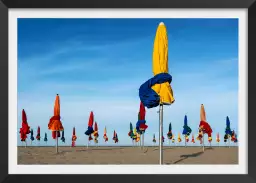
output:
[[147,108],[174,102],[173,91],[170,86],[172,76],[168,74],[168,37],[164,23],[160,23],[155,36],[153,49],[154,77],[141,85],[140,100]]

